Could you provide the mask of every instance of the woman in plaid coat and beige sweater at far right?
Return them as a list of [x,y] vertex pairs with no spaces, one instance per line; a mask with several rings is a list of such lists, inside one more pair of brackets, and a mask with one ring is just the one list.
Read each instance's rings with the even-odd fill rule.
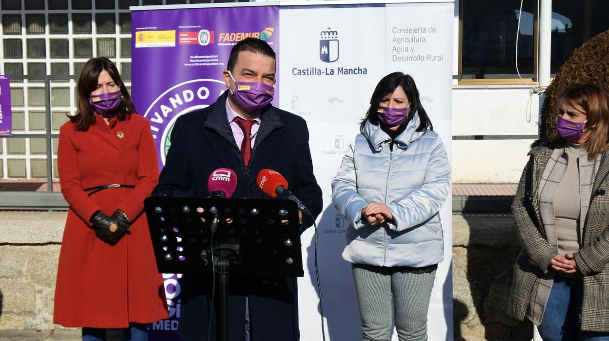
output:
[[555,137],[533,143],[512,204],[523,250],[508,314],[544,341],[609,340],[607,93],[568,88],[555,124]]

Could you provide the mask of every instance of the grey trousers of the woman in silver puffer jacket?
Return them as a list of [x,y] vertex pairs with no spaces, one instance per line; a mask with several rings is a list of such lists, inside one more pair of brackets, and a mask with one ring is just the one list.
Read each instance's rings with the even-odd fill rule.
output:
[[427,311],[435,268],[412,271],[413,268],[353,264],[364,341],[391,339],[392,303],[398,339],[427,340]]

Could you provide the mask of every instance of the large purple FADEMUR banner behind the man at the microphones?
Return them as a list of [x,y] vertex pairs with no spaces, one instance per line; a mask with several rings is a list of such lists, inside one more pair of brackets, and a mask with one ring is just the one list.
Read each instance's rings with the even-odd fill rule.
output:
[[[132,97],[138,113],[150,120],[161,168],[175,120],[213,104],[227,90],[222,71],[233,45],[254,37],[277,53],[278,27],[278,6],[132,12]],[[278,84],[274,106],[279,103]],[[178,340],[180,278],[163,275],[170,317],[150,325],[150,340]]]

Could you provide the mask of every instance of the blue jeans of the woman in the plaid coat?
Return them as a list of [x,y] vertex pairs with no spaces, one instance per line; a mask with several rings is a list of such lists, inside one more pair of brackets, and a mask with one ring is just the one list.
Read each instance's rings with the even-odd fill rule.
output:
[[537,327],[543,341],[609,341],[609,332],[579,330],[582,293],[581,278],[556,276]]

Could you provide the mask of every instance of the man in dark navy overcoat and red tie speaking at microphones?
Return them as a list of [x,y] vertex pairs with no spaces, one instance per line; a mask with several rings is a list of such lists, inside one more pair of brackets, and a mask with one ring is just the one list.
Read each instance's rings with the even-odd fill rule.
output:
[[[270,198],[256,184],[258,173],[270,168],[311,211],[312,217],[300,216],[301,229],[308,228],[322,210],[322,190],[313,174],[305,120],[270,104],[275,52],[262,40],[246,38],[233,46],[222,76],[228,91],[211,106],[177,119],[154,193],[207,197],[209,174],[228,168],[237,175],[233,198]],[[231,277],[230,340],[299,340],[296,283],[295,278]],[[181,339],[206,339],[209,293],[211,278],[185,276]]]

